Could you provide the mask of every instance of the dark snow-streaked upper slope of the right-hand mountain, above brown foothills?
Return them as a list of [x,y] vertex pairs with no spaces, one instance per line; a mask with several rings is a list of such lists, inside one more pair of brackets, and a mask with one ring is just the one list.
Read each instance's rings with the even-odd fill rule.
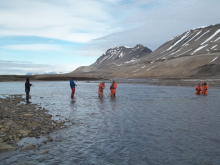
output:
[[148,60],[217,52],[220,49],[220,24],[191,29],[160,46]]

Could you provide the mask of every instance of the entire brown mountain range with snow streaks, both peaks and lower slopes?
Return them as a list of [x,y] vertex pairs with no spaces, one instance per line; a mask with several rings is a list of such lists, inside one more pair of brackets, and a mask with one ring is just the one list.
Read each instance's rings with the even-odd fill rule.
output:
[[220,78],[220,24],[172,38],[155,51],[140,44],[108,49],[71,74],[106,78]]

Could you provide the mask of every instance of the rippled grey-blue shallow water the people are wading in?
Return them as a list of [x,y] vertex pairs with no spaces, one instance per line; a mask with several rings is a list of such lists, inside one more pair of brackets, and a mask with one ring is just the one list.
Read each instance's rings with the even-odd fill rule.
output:
[[[98,98],[98,83],[32,82],[32,103],[76,123],[51,134],[39,151],[0,154],[2,164],[219,164],[220,89],[118,83]],[[1,82],[0,94],[25,94],[24,82]],[[41,154],[42,150],[48,154]]]

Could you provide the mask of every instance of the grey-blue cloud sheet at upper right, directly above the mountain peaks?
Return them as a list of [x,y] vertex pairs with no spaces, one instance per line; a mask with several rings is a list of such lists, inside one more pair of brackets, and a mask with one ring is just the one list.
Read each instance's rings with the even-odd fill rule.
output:
[[118,17],[111,28],[116,26],[118,31],[88,42],[85,50],[95,49],[104,53],[111,47],[133,47],[139,43],[155,50],[187,30],[219,23],[219,5],[218,0],[212,3],[205,0],[127,1],[113,11]]

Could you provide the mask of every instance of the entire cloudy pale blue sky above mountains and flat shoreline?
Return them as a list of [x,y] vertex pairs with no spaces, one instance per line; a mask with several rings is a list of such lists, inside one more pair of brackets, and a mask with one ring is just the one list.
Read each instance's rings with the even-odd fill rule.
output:
[[151,50],[219,24],[219,0],[1,0],[0,75],[71,72],[116,46]]

